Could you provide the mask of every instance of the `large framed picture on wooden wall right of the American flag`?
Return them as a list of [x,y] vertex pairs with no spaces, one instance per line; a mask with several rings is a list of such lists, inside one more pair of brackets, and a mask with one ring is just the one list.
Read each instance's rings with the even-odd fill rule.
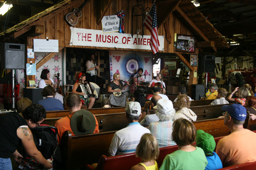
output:
[[177,34],[176,52],[195,53],[195,37]]

